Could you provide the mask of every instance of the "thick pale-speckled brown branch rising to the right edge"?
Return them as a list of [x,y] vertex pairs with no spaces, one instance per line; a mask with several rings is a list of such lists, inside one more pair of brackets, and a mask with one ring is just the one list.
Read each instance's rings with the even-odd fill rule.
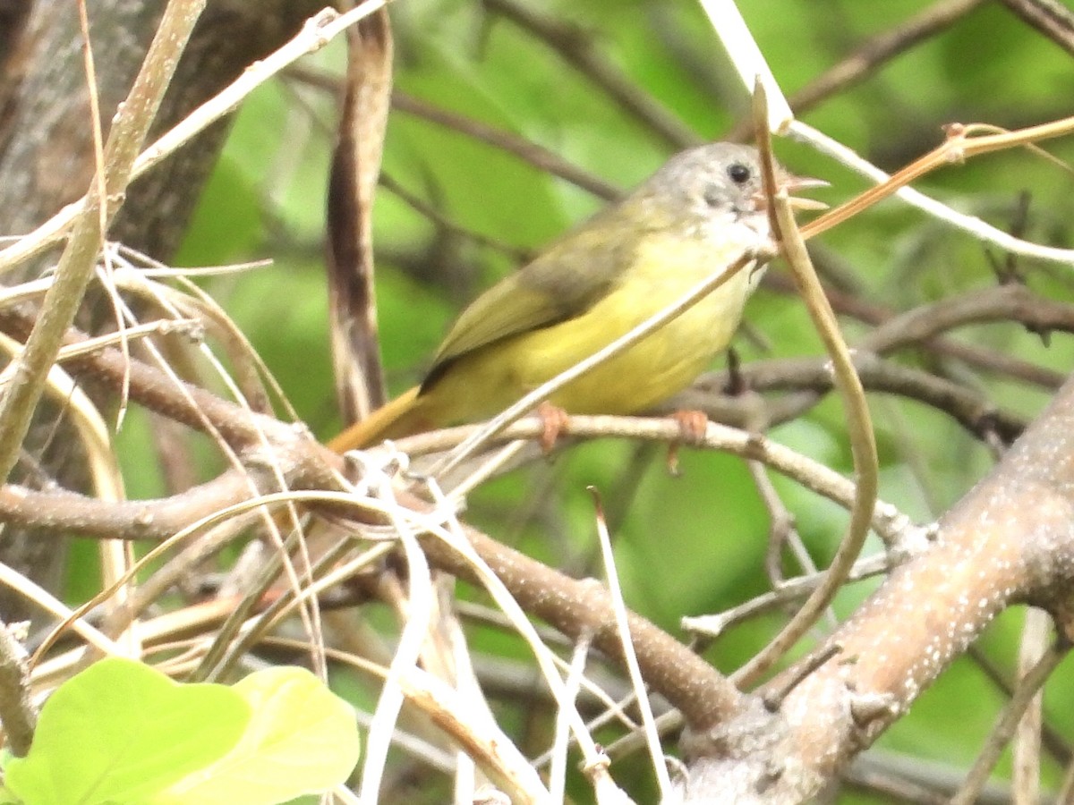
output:
[[1041,606],[1074,636],[1072,590],[1074,378],[944,515],[934,542],[895,570],[831,636],[829,644],[842,652],[794,688],[780,723],[766,727],[768,742],[729,744],[726,735],[739,734],[734,723],[691,736],[691,780],[676,801],[808,800],[1005,608]]

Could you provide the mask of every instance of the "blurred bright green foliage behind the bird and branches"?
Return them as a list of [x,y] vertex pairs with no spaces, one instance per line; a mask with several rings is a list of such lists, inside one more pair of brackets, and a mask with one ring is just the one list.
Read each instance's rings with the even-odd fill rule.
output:
[[[865,38],[931,5],[911,0],[739,2],[788,94]],[[699,137],[719,138],[740,119],[743,91],[697,3],[572,0],[543,3],[540,11],[577,26],[599,58]],[[406,0],[393,4],[392,15],[396,90],[422,104],[537,143],[624,189],[673,150],[553,47],[481,3]],[[336,43],[304,68],[338,74],[343,57]],[[1031,125],[1069,114],[1071,97],[1071,57],[1001,4],[985,3],[802,119],[894,170],[938,144],[946,122]],[[322,262],[335,108],[332,92],[294,74],[259,90],[237,116],[178,260],[211,265],[272,259],[270,267],[205,284],[249,335],[300,416],[325,438],[340,425],[330,375]],[[1047,147],[1066,162],[1074,157],[1074,142]],[[865,187],[802,146],[779,142],[777,150],[795,172],[830,180],[832,188],[822,194],[829,203]],[[432,205],[456,228],[431,222],[391,190],[382,188],[378,194],[381,349],[390,385],[398,392],[420,377],[461,305],[511,270],[519,254],[539,249],[600,202],[487,142],[398,109],[390,118],[383,170],[393,186]],[[1028,236],[1069,246],[1071,185],[1069,172],[1028,151],[1012,151],[952,166],[921,180],[919,188],[1001,228],[1012,225],[1018,194],[1028,191]],[[987,287],[996,281],[992,261],[1002,261],[898,202],[886,202],[824,235],[819,246],[838,255],[866,301],[892,309]],[[1019,262],[1017,268],[1034,289],[1070,298],[1074,278],[1068,268],[1030,262]],[[751,335],[736,341],[743,361],[821,352],[794,296],[763,288],[746,318]],[[863,332],[846,322],[852,342]],[[966,328],[958,337],[1060,372],[1071,366],[1072,347],[1062,337],[1045,347],[1039,336],[1010,325]],[[919,360],[913,353],[903,357],[908,363]],[[1027,416],[1046,402],[1045,394],[1024,385],[985,376],[969,380],[998,405]],[[870,400],[881,449],[881,497],[919,522],[941,514],[990,466],[989,450],[950,420],[914,402],[881,395]],[[146,427],[132,412],[119,437],[132,497],[160,492],[159,479],[145,469],[153,463]],[[824,401],[772,436],[841,472],[851,471],[836,400]],[[671,477],[664,453],[648,448],[578,445],[487,484],[471,497],[467,516],[533,556],[576,574],[599,575],[594,507],[585,492],[595,486],[610,513],[627,602],[676,632],[683,615],[720,611],[768,588],[763,560],[769,517],[743,464],[684,451],[681,470],[681,477]],[[213,471],[206,462],[205,474]],[[807,545],[824,561],[842,535],[844,513],[780,479],[777,486]],[[85,561],[91,561],[89,553]],[[87,575],[84,565],[72,568],[73,598],[83,594],[77,580]],[[837,611],[847,611],[869,589],[868,583],[852,586]],[[1020,613],[1005,614],[979,643],[981,652],[1008,677],[1019,623]],[[779,624],[778,617],[752,620],[719,640],[707,656],[731,670]],[[470,636],[478,652],[523,656],[513,639],[494,630],[475,627]],[[960,660],[880,746],[964,766],[1003,701],[977,662]],[[1068,744],[1074,742],[1068,715],[1074,712],[1074,683],[1069,675],[1053,678],[1045,709]],[[532,727],[539,729],[531,735],[534,746],[540,746],[548,724],[522,708],[518,717],[534,719]],[[1008,771],[1005,762],[1001,773]],[[1057,765],[1046,769],[1050,785],[1060,771]],[[847,794],[845,801],[874,800]]]

